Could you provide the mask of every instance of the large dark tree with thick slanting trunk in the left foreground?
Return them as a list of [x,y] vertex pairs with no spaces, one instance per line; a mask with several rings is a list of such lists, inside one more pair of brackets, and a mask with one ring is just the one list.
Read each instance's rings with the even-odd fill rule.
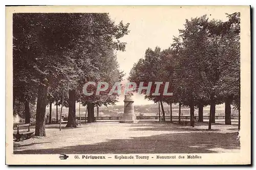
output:
[[72,59],[65,55],[75,35],[68,34],[73,30],[67,27],[72,26],[75,21],[74,17],[69,18],[67,14],[13,15],[13,58],[23,64],[29,72],[29,80],[37,84],[35,87],[38,86],[35,129],[37,136],[46,136],[45,107],[48,103],[48,87],[55,80],[68,75],[63,68],[75,68]]

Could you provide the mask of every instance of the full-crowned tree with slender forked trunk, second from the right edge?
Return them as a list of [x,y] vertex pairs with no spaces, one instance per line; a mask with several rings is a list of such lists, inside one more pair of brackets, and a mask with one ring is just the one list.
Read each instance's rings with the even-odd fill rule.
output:
[[[186,74],[186,77],[188,76],[186,86],[189,87],[194,98],[205,93],[210,100],[208,129],[211,129],[211,123],[215,122],[217,96],[220,95],[220,89],[225,85],[222,78],[230,70],[229,63],[235,61],[229,55],[232,53],[230,42],[233,39],[224,34],[227,32],[225,30],[230,29],[226,26],[223,21],[208,21],[204,15],[192,18],[190,21],[186,20],[185,29],[180,30],[183,44],[181,53],[183,64],[181,65],[186,67],[186,72],[189,73]],[[203,93],[195,91],[195,84],[197,88],[202,89]]]

